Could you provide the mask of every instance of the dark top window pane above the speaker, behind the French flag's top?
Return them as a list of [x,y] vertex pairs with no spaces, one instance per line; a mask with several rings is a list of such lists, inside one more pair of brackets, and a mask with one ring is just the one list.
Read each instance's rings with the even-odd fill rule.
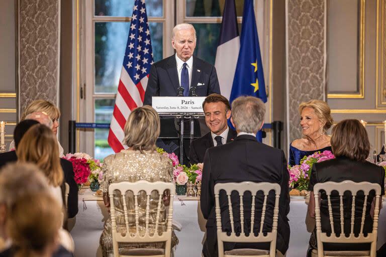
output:
[[[244,0],[235,1],[237,16],[243,16]],[[187,17],[223,16],[225,0],[186,0]]]

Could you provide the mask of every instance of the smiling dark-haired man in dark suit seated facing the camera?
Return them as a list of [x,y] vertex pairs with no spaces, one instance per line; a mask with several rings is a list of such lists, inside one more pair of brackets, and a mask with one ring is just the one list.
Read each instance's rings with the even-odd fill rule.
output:
[[190,164],[203,163],[208,148],[232,142],[237,136],[236,131],[228,126],[231,105],[226,97],[220,94],[208,95],[203,102],[203,110],[211,132],[191,142]]

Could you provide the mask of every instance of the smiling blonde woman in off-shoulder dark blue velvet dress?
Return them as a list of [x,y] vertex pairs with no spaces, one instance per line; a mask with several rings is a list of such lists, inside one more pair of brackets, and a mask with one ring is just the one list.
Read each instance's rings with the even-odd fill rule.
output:
[[332,151],[330,136],[326,131],[331,127],[333,119],[331,110],[325,101],[310,100],[299,105],[300,125],[303,138],[294,140],[289,145],[288,164],[300,164],[304,156],[315,152]]

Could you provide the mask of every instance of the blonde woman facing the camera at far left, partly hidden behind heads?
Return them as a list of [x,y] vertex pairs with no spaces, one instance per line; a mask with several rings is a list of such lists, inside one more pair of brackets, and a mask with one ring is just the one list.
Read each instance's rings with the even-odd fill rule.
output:
[[[39,122],[41,122],[41,120],[39,120],[39,118],[29,117],[30,114],[36,113],[36,112],[42,112],[43,114],[46,114],[46,115],[48,115],[51,118],[51,120],[52,120],[52,123],[50,123],[51,130],[52,130],[52,133],[56,137],[56,135],[58,133],[58,127],[59,127],[59,117],[60,117],[60,110],[59,110],[59,108],[56,107],[55,104],[53,104],[50,101],[35,100],[35,101],[31,102],[27,106],[26,110],[24,111],[24,113],[23,113],[23,115],[21,117],[21,120],[24,120],[24,119],[27,119],[27,118],[32,118],[32,119],[36,119]],[[59,157],[63,157],[64,156],[63,148],[60,145],[59,141],[57,143],[58,143]],[[12,149],[15,149],[14,142],[11,142],[11,145],[10,145],[10,151]]]

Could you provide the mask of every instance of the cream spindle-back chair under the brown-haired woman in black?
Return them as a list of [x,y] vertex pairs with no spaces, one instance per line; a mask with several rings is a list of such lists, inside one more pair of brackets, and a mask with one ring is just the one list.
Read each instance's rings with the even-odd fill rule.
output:
[[[322,222],[320,216],[320,194],[319,192],[323,190],[327,196],[327,205],[328,205],[328,213],[329,213],[329,223],[331,227],[331,233],[322,231]],[[373,216],[373,224],[372,231],[368,232],[367,235],[363,233],[364,220],[366,216],[366,208],[367,208],[367,199],[370,191],[374,191],[375,193],[375,205],[374,205],[374,216]],[[331,193],[336,191],[338,195],[331,196]],[[351,192],[350,199],[347,199],[348,194],[344,195],[345,192]],[[358,192],[363,192],[358,194]],[[362,256],[362,257],[375,257],[376,255],[376,236],[377,236],[377,228],[378,228],[378,215],[379,215],[379,198],[380,198],[380,186],[375,183],[369,182],[360,182],[355,183],[350,180],[345,180],[343,182],[325,182],[325,183],[317,183],[314,186],[314,199],[315,199],[315,219],[316,219],[316,237],[318,243],[318,249],[314,249],[312,251],[312,256],[324,257],[324,256]],[[363,206],[356,206],[355,199],[363,199]],[[335,210],[333,211],[331,201],[339,199],[339,212]],[[345,204],[351,205],[351,208],[348,208],[349,211],[345,213]],[[358,208],[359,213],[358,214]],[[361,211],[360,211],[361,210]],[[368,211],[367,211],[368,213]],[[344,216],[350,217],[350,233],[347,233],[348,236],[344,233]],[[340,223],[340,232],[339,235],[335,232],[337,226],[334,226],[334,218],[339,217]],[[360,220],[360,230],[359,234],[354,233],[354,225],[356,220]],[[336,221],[336,218],[335,218]],[[359,226],[359,224],[356,224]],[[343,231],[343,232],[342,232]],[[339,232],[339,231],[337,231]],[[370,250],[365,251],[325,251],[323,249],[323,243],[370,243]]]

